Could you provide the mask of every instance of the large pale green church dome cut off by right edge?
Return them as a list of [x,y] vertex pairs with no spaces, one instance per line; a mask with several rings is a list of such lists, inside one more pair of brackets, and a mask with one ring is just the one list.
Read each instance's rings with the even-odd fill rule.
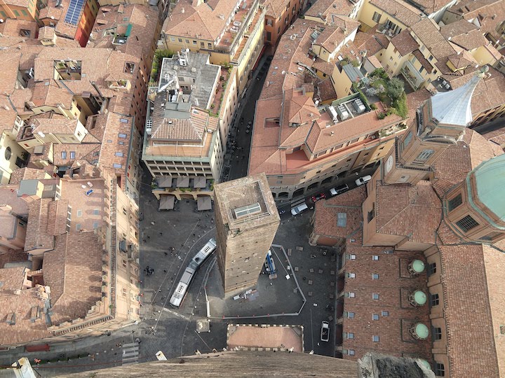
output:
[[505,155],[483,162],[471,175],[475,179],[478,200],[505,221]]

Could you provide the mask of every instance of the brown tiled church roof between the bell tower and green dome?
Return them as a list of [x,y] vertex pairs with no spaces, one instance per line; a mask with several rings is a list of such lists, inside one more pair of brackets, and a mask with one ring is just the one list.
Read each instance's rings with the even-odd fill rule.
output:
[[416,186],[384,186],[377,181],[375,209],[377,232],[435,244],[442,205],[429,181],[419,181]]

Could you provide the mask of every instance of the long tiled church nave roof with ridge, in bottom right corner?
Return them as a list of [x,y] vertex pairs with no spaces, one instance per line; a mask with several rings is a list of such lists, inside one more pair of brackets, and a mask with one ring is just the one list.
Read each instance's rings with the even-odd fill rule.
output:
[[[497,353],[503,355],[503,345],[497,350],[494,335],[500,335],[498,323],[493,324],[493,301],[500,300],[503,280],[499,272],[504,268],[504,255],[482,244],[439,246],[442,272],[440,279],[444,290],[444,317],[447,327],[447,354],[452,377],[499,377]],[[494,265],[494,267],[492,267]],[[487,277],[488,271],[490,276]],[[497,276],[499,274],[499,276]],[[492,300],[490,300],[492,296]],[[499,315],[497,318],[499,321]],[[469,337],[479,324],[478,337]],[[469,353],[479,349],[481,358],[468,364]]]

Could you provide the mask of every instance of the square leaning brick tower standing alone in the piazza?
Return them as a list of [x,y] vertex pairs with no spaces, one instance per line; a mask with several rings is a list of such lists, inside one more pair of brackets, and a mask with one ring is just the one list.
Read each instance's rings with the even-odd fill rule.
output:
[[264,174],[217,184],[217,263],[229,297],[253,288],[280,218]]

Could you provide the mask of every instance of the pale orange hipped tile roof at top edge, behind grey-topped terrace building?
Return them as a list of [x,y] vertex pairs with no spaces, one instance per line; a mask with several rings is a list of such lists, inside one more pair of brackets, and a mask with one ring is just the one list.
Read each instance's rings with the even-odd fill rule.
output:
[[[249,0],[250,5],[253,1]],[[173,36],[185,36],[208,41],[216,41],[227,25],[227,18],[234,12],[235,0],[217,0],[214,6],[201,2],[193,5],[191,0],[181,0],[170,12],[163,31]],[[223,18],[220,18],[220,15]]]

